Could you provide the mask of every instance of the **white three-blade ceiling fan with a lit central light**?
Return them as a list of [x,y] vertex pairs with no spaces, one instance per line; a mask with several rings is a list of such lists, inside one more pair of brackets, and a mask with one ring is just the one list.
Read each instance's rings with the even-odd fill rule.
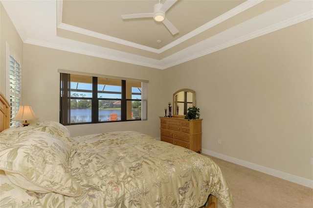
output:
[[122,19],[135,19],[135,18],[149,18],[152,17],[156,22],[162,22],[167,29],[175,35],[179,33],[179,30],[172,24],[168,19],[165,18],[165,12],[173,6],[178,0],[166,0],[164,4],[158,3],[154,5],[154,12],[153,13],[141,13],[141,14],[129,14],[129,15],[121,15]]

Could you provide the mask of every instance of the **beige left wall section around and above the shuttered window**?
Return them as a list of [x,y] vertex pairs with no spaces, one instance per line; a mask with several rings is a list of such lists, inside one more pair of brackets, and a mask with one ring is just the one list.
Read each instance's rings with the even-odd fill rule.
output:
[[5,96],[7,96],[5,94],[6,42],[9,45],[10,50],[14,51],[14,53],[21,59],[20,64],[22,66],[22,39],[0,3],[0,92]]

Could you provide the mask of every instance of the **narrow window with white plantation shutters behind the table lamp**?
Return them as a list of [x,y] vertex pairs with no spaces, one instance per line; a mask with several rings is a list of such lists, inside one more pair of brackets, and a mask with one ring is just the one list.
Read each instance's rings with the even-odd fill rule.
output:
[[6,44],[6,57],[6,80],[8,81],[6,88],[11,105],[10,126],[18,127],[20,126],[20,121],[12,121],[12,119],[17,115],[21,103],[21,64],[20,59],[12,50],[10,50],[8,44]]

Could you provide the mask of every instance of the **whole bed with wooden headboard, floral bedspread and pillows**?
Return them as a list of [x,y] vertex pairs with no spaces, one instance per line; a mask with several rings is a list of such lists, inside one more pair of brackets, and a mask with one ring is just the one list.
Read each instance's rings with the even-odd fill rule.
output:
[[1,208],[234,207],[220,168],[201,154],[134,131],[72,138],[55,121],[8,128],[0,98]]

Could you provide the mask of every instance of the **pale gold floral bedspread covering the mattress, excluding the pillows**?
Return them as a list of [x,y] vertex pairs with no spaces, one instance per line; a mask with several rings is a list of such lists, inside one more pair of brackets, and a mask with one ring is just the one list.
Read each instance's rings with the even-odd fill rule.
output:
[[133,131],[70,139],[68,165],[80,196],[28,191],[0,170],[0,207],[200,208],[212,194],[233,208],[220,168],[191,150]]

